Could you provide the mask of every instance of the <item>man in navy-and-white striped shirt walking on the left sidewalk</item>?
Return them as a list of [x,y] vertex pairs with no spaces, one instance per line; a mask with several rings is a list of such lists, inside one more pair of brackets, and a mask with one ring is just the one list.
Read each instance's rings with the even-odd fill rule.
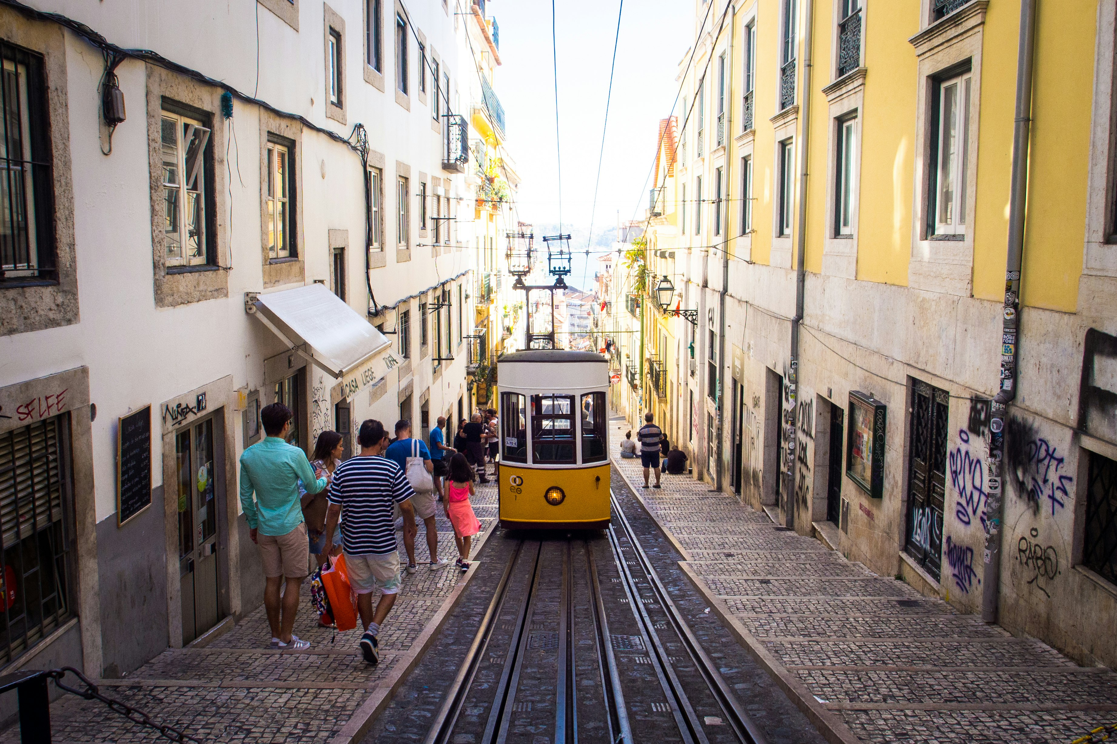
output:
[[[334,530],[342,519],[342,552],[350,586],[356,593],[364,635],[361,654],[369,664],[380,660],[380,626],[395,603],[400,591],[400,554],[395,550],[395,520],[392,506],[400,505],[404,522],[414,521],[411,496],[414,491],[395,462],[384,457],[388,432],[375,419],[361,424],[357,433],[361,454],[334,471],[330,485],[330,511],[326,512],[326,554],[333,550]],[[376,610],[372,592],[380,589]]]

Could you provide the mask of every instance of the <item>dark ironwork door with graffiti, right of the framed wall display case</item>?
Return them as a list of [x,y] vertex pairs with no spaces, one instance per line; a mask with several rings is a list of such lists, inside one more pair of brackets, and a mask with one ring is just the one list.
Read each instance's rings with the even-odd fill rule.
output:
[[911,409],[907,541],[904,550],[938,580],[946,496],[946,390],[915,380]]

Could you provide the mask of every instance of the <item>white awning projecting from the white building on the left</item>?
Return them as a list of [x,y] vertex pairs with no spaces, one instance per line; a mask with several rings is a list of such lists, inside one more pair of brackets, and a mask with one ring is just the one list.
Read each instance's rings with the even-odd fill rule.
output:
[[256,317],[335,378],[391,346],[383,334],[324,284],[259,294]]

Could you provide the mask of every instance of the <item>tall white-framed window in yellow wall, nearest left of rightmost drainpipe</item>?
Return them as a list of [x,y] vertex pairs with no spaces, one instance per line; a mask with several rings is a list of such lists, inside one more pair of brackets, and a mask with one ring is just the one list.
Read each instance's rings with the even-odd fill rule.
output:
[[938,81],[932,109],[932,203],[935,235],[966,231],[966,170],[970,161],[970,73]]

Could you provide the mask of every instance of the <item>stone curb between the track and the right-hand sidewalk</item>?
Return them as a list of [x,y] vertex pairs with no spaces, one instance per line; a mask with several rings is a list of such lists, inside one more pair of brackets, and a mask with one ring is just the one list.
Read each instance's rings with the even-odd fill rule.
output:
[[863,744],[861,740],[853,735],[849,726],[841,717],[834,714],[832,711],[823,707],[821,703],[811,694],[803,683],[799,680],[798,677],[787,671],[782,664],[766,649],[764,645],[756,639],[745,627],[737,620],[729,608],[726,607],[725,602],[706,586],[706,582],[699,577],[694,569],[690,568],[690,553],[679,544],[679,541],[675,539],[671,531],[659,521],[652,510],[648,509],[647,502],[640,493],[632,487],[632,481],[629,480],[628,475],[620,468],[615,463],[613,467],[628,484],[629,490],[637,497],[637,500],[643,505],[645,511],[648,515],[656,522],[659,526],[660,532],[671,542],[679,554],[681,554],[686,560],[679,561],[679,568],[686,573],[690,583],[700,593],[707,602],[709,602],[710,608],[717,616],[722,619],[725,627],[733,634],[737,642],[745,648],[752,655],[752,657],[764,667],[775,683],[780,685],[780,688],[791,698],[795,706],[803,712],[803,714],[810,719],[814,727],[819,729],[819,733],[825,736],[830,744]]

